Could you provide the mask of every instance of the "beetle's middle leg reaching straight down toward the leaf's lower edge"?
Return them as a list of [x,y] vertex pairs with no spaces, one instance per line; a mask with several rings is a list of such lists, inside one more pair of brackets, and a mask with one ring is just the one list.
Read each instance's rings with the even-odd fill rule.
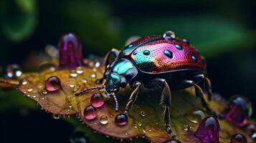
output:
[[163,121],[166,124],[166,132],[171,134],[171,137],[175,137],[175,134],[171,130],[170,124],[171,89],[169,87],[169,84],[166,82],[166,79],[153,79],[146,85],[147,88],[156,88],[158,86],[163,87],[160,104],[163,104],[165,106],[163,112]]

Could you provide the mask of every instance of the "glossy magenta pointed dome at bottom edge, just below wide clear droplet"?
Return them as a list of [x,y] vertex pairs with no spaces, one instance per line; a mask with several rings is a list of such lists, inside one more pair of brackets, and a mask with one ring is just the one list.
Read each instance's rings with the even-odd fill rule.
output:
[[195,136],[204,143],[219,142],[219,122],[215,117],[204,118],[196,129]]

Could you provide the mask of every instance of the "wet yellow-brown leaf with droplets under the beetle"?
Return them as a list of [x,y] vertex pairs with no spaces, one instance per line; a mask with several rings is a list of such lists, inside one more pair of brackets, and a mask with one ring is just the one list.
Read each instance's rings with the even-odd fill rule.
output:
[[[120,105],[118,112],[115,112],[113,99],[105,97],[103,106],[95,108],[95,118],[86,119],[85,108],[91,105],[91,97],[95,93],[104,95],[104,90],[87,92],[80,97],[75,97],[75,93],[85,88],[102,86],[95,84],[95,79],[103,76],[104,67],[100,65],[98,61],[88,61],[87,66],[72,70],[56,69],[44,70],[40,73],[25,73],[19,78],[19,90],[52,114],[78,114],[82,122],[85,122],[93,131],[106,136],[117,139],[142,137],[151,142],[166,142],[172,139],[165,132],[163,124],[163,107],[159,105],[160,89],[142,88],[140,90],[138,99],[129,114],[128,124],[125,126],[115,124],[115,117],[124,111],[125,103],[132,92],[130,87],[122,89],[118,94]],[[58,77],[61,88],[55,92],[47,91],[45,82],[49,77]],[[6,83],[11,83],[10,79],[1,81],[5,81],[1,82],[2,87],[6,87]],[[208,103],[218,113],[221,113],[227,104],[224,99],[217,95]],[[172,91],[171,127],[176,134],[175,139],[180,142],[201,142],[194,136],[194,132],[202,119],[209,115],[202,107],[200,100],[195,97],[194,88]],[[242,127],[236,127],[224,119],[218,120],[221,128],[219,142],[230,142],[232,135],[237,133],[244,134],[247,141],[252,142]],[[76,122],[73,124],[77,125]]]

